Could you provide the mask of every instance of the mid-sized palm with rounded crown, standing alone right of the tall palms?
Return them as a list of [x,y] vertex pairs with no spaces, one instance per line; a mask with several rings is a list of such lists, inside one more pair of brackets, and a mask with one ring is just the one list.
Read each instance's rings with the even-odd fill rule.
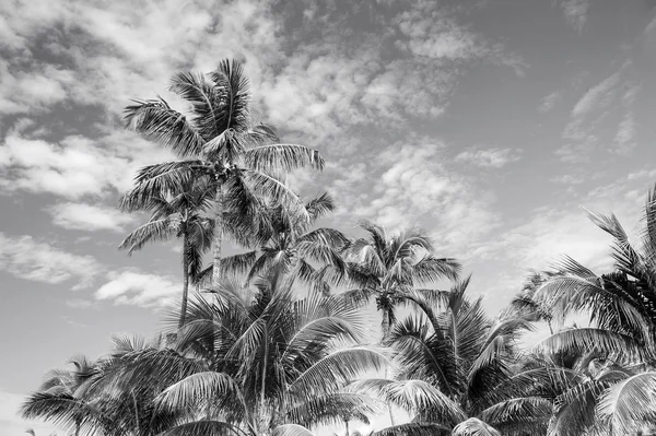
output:
[[383,315],[382,343],[385,343],[396,319],[395,308],[405,296],[441,279],[456,280],[460,263],[435,257],[431,238],[421,231],[412,228],[388,237],[380,225],[362,222],[361,227],[368,237],[354,240],[344,250],[347,274],[331,266],[319,274],[338,285],[354,285],[341,294],[352,304],[368,303],[375,297],[376,308]]

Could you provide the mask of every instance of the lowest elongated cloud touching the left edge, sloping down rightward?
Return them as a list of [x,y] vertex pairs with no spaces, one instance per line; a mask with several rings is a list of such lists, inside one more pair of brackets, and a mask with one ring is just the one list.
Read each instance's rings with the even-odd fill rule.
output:
[[16,278],[50,284],[77,281],[87,286],[104,270],[91,256],[65,251],[33,236],[0,233],[0,270]]

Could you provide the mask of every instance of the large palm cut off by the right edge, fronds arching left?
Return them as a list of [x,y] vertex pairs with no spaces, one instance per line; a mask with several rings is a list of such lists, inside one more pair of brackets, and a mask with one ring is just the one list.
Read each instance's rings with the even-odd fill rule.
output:
[[[587,315],[590,327],[561,330],[538,351],[591,356],[584,361],[585,382],[572,388],[571,405],[557,414],[553,425],[577,423],[574,428],[590,434],[630,434],[642,431],[656,413],[656,400],[646,394],[655,381],[656,191],[647,196],[640,247],[613,214],[589,216],[613,238],[613,271],[597,275],[567,257],[549,272],[532,298],[560,321]],[[590,370],[589,365],[597,367]]]

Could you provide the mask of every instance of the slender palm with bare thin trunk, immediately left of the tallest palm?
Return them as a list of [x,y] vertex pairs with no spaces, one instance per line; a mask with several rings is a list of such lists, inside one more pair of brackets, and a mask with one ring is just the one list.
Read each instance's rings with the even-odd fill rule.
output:
[[197,282],[202,267],[202,254],[212,240],[213,222],[204,211],[211,205],[213,187],[202,180],[186,180],[175,191],[152,192],[141,197],[139,191],[130,191],[121,200],[125,211],[151,212],[148,223],[132,231],[120,243],[119,249],[132,251],[155,240],[173,237],[183,241],[183,299],[178,326],[185,323],[189,281]]

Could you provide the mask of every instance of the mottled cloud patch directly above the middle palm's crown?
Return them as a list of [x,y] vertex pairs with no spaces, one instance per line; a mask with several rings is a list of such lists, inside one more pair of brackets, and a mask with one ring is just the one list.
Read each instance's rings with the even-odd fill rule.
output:
[[[499,225],[499,216],[476,180],[446,166],[443,149],[438,141],[412,139],[378,152],[368,164],[329,167],[328,172],[339,170],[329,189],[339,192],[343,209],[338,213],[368,219],[390,231],[423,226],[434,232],[449,256],[468,257],[469,248]],[[359,189],[372,177],[378,181]]]

